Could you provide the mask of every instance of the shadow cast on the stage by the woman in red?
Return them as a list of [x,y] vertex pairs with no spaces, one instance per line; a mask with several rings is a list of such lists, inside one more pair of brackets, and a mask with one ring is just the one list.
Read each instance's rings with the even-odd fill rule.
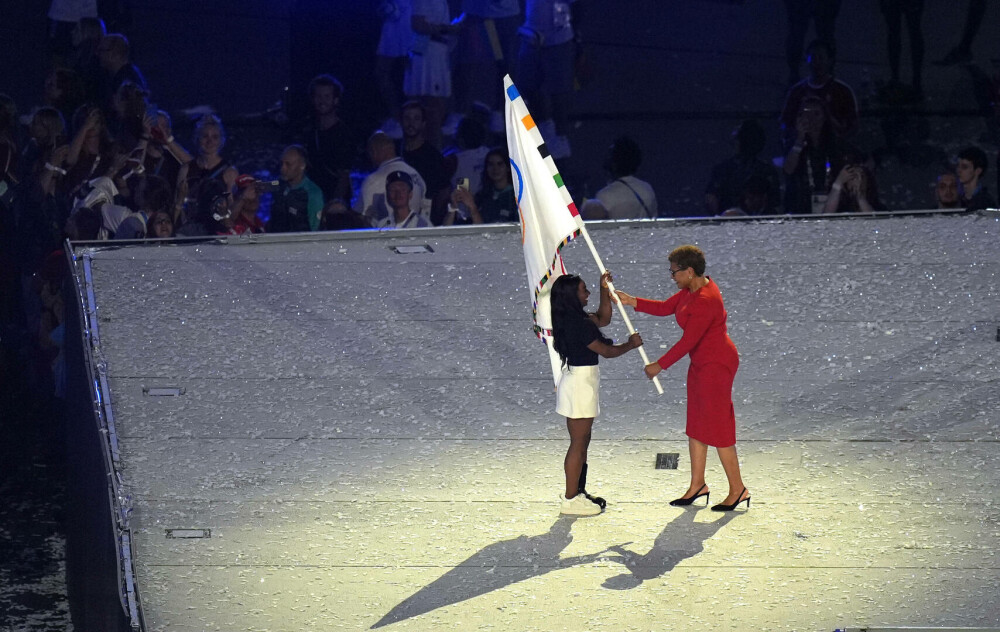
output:
[[615,561],[620,561],[628,572],[609,577],[602,586],[612,590],[630,590],[646,580],[669,573],[682,560],[705,550],[705,541],[736,517],[735,512],[727,512],[712,522],[695,522],[697,513],[688,509],[668,523],[645,555],[633,553],[623,546],[610,547],[609,550],[621,555]]

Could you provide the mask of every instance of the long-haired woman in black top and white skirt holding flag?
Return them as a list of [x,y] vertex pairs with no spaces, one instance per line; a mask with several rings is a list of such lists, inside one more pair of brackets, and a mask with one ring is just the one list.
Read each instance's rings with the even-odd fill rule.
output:
[[566,493],[561,497],[560,509],[560,513],[564,514],[599,514],[606,504],[603,499],[592,497],[585,490],[590,431],[594,418],[600,414],[597,358],[617,358],[642,346],[642,338],[637,333],[620,345],[601,334],[599,327],[611,322],[610,280],[609,272],[601,276],[601,303],[594,313],[583,311],[590,291],[580,277],[563,275],[552,284],[552,346],[563,361],[556,412],[566,417],[569,430],[569,449],[563,464]]

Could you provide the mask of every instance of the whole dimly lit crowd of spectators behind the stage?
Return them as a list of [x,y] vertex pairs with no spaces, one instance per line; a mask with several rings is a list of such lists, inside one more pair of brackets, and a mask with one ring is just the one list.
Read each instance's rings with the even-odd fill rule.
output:
[[[289,130],[273,179],[241,174],[214,114],[196,121],[189,141],[175,138],[170,114],[155,105],[153,87],[133,63],[128,39],[106,32],[96,13],[67,13],[67,4],[74,3],[53,2],[50,13],[51,66],[42,102],[19,112],[0,95],[6,296],[18,295],[25,276],[43,269],[67,236],[157,239],[516,222],[503,103],[495,89],[505,73],[529,102],[552,157],[572,154],[568,122],[570,95],[581,78],[581,2],[463,0],[463,12],[453,18],[447,0],[383,0],[372,68],[380,129],[352,128],[340,116],[349,98],[343,85],[316,76],[308,86],[308,119]],[[982,4],[970,0],[962,41],[937,63],[968,58]],[[733,132],[734,155],[710,171],[704,214],[882,210],[877,165],[858,149],[859,104],[836,77],[840,2],[786,5],[790,88],[779,120],[783,155],[762,157],[765,126],[743,121]],[[911,27],[913,81],[906,98],[912,100],[922,98],[923,43],[912,27],[919,12],[909,7],[895,0],[881,5],[890,26],[890,86],[900,82],[899,25],[906,20]],[[821,37],[803,50],[810,21]],[[800,79],[803,52],[808,75]],[[653,187],[637,176],[641,163],[635,140],[615,139],[604,163],[608,183],[581,200],[583,216],[657,217]],[[988,168],[983,151],[962,151],[938,177],[935,203],[995,206],[984,185]]]

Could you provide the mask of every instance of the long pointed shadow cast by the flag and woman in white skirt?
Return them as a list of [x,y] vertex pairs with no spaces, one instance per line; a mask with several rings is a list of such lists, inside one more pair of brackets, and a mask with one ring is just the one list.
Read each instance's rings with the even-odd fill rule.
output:
[[596,561],[607,550],[560,559],[573,541],[574,516],[560,516],[548,532],[490,544],[408,597],[371,629],[484,595],[551,571]]

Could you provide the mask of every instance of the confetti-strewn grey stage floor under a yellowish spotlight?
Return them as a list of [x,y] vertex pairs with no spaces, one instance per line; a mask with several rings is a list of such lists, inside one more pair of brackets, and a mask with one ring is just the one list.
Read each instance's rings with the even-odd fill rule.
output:
[[[78,246],[145,628],[1000,627],[997,215],[591,235],[640,296],[675,291],[672,247],[706,251],[748,511],[667,504],[687,364],[657,396],[633,353],[601,363],[607,511],[559,516],[519,227]],[[596,285],[585,245],[564,255]],[[679,337],[633,322],[653,357]],[[714,451],[708,480],[721,501]]]

